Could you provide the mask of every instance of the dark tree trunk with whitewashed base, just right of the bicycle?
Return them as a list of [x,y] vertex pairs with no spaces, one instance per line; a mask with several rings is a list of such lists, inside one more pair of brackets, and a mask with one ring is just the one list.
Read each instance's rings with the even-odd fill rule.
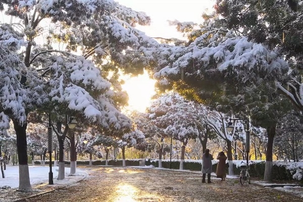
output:
[[272,168],[273,168],[273,147],[274,147],[274,137],[276,134],[277,124],[273,124],[267,128],[267,149],[266,149],[266,163],[264,172],[264,181],[271,181],[272,179]]

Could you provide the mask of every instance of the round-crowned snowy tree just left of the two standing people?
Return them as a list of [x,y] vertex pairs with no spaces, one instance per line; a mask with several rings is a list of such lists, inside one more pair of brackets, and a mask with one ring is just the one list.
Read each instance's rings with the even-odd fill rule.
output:
[[177,93],[168,93],[155,100],[148,111],[153,123],[163,130],[164,137],[182,143],[180,170],[183,170],[185,147],[190,139],[197,138],[198,126],[201,124],[194,104],[186,102]]

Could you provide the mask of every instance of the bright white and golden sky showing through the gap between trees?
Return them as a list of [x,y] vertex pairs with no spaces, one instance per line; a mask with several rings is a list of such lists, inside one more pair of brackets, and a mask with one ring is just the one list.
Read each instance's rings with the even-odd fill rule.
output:
[[[175,27],[169,26],[168,21],[200,23],[203,12],[212,9],[214,0],[117,0],[121,5],[135,11],[145,12],[151,17],[150,26],[137,26],[150,37],[184,39]],[[129,95],[128,110],[144,112],[155,94],[155,81],[148,78],[147,73],[134,78],[128,78],[122,86]]]

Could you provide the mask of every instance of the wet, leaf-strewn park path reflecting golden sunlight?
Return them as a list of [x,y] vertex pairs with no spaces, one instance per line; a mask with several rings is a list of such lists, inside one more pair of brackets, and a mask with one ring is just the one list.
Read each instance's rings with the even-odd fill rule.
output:
[[86,167],[83,181],[53,193],[27,199],[30,202],[217,202],[302,201],[286,193],[237,181],[201,183],[201,174],[126,167]]

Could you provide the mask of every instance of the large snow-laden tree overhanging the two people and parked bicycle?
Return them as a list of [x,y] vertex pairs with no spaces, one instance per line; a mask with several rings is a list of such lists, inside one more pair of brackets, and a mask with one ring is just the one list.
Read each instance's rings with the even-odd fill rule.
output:
[[[257,112],[251,119],[258,124],[262,122],[270,137],[265,180],[271,177],[273,137],[277,119],[281,117],[275,113],[283,114],[288,110],[277,109],[277,106],[284,106],[281,105],[284,100],[280,99],[275,86],[289,97],[299,95],[300,54],[296,53],[300,51],[293,51],[299,47],[295,44],[300,40],[297,27],[301,25],[302,15],[297,12],[299,9],[300,5],[295,12],[290,10],[287,1],[217,1],[216,12],[204,15],[201,28],[188,34],[188,46],[175,47],[171,56],[159,63],[161,70],[155,74],[161,85],[170,84],[170,88],[181,79],[199,98],[220,104],[218,107],[223,112],[239,111],[250,116]],[[287,12],[281,13],[281,10]],[[183,27],[182,23],[176,25]],[[287,41],[286,32],[294,33],[293,37],[287,34]],[[289,71],[292,74],[289,75]],[[291,87],[289,91],[282,87],[284,83]],[[255,94],[246,96],[247,91]],[[294,98],[297,103],[299,99]],[[249,104],[259,109],[252,109]],[[271,117],[275,120],[260,116],[260,110],[270,112],[268,115],[275,114]]]

